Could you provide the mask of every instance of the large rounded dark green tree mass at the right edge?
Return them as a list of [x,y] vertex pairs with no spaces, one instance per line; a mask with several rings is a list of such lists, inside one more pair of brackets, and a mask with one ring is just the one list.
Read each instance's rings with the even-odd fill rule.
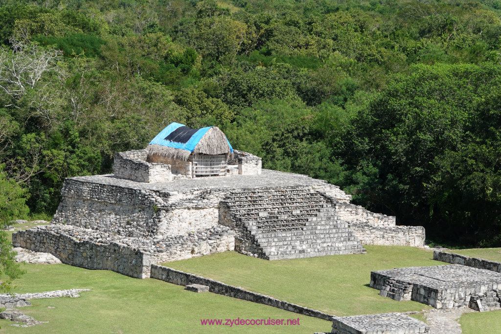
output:
[[459,243],[499,234],[498,98],[489,92],[500,85],[501,67],[488,64],[415,66],[396,78],[349,132],[354,198]]

